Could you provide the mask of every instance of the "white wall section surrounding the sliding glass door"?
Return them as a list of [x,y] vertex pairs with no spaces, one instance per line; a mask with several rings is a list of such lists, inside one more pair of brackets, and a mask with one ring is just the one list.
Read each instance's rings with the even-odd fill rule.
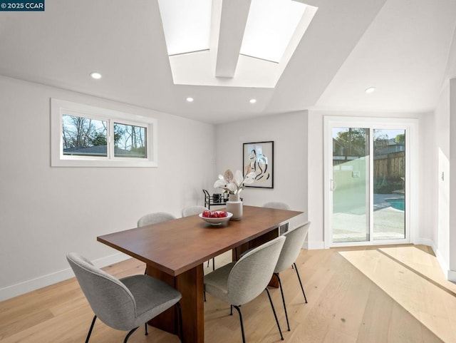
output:
[[[420,189],[415,190],[418,193],[419,210],[415,228],[415,234],[412,237],[413,242],[420,244],[432,245],[432,196],[421,196],[432,189],[432,186],[425,185],[427,180],[432,180],[432,148],[427,147],[426,141],[432,142],[432,115],[423,113],[420,115],[409,115],[405,113],[354,113],[354,112],[336,112],[336,111],[309,111],[309,220],[312,222],[312,230],[309,231],[309,248],[324,247],[324,211],[323,211],[323,117],[324,116],[376,116],[382,118],[418,118],[419,120],[419,138],[418,147],[419,170],[412,170],[412,173],[418,174],[418,183]],[[424,140],[424,142],[423,142]],[[432,143],[430,143],[432,145]],[[431,163],[425,157],[431,154]]]

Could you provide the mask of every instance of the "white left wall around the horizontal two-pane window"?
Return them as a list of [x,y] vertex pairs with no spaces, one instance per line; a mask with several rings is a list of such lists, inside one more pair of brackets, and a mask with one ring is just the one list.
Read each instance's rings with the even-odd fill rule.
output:
[[[159,167],[51,168],[50,98],[157,118]],[[67,252],[122,259],[96,237],[145,213],[180,216],[217,175],[209,124],[4,77],[0,118],[0,301],[71,277]]]

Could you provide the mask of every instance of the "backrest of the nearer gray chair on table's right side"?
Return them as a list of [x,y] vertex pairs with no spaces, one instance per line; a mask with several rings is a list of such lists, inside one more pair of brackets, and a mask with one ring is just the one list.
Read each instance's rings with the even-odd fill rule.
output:
[[250,250],[237,261],[228,277],[228,295],[231,304],[237,306],[245,304],[266,289],[284,242],[284,236],[276,237]]

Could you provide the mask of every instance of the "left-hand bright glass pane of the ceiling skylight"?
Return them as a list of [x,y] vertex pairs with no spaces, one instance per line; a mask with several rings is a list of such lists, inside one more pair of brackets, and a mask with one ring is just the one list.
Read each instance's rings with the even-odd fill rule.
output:
[[168,55],[209,49],[212,0],[158,0]]

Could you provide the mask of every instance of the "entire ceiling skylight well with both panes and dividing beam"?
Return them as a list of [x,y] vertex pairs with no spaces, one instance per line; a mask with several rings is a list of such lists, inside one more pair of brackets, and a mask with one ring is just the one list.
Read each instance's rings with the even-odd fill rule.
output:
[[274,88],[318,10],[301,0],[157,1],[177,85]]

